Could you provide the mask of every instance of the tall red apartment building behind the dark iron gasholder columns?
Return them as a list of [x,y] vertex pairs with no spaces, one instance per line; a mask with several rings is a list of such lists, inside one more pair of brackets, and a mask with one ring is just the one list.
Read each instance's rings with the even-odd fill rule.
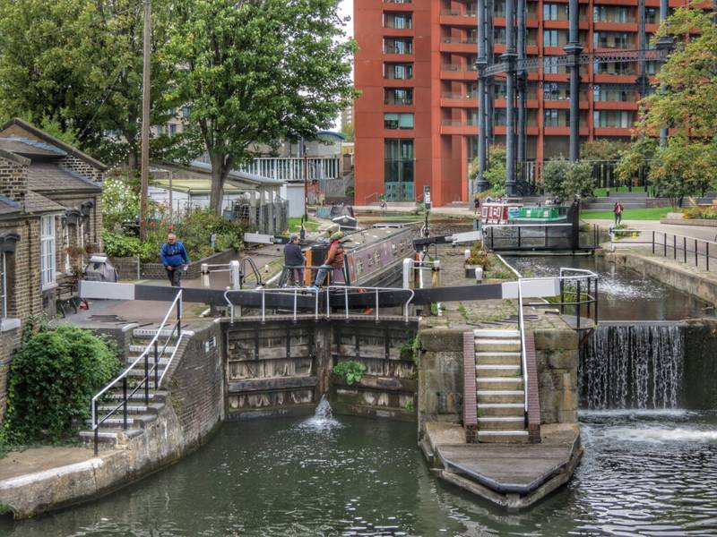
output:
[[[583,53],[639,48],[638,2],[580,0]],[[660,0],[644,0],[645,39],[659,26]],[[686,4],[669,0],[669,7]],[[494,54],[505,52],[505,0],[493,0]],[[526,158],[568,155],[568,0],[526,2],[525,48],[543,57],[528,72]],[[429,185],[436,205],[466,200],[477,154],[477,0],[356,0],[356,204],[416,200]],[[580,139],[629,140],[637,115],[634,63],[581,66]],[[652,79],[657,62],[646,62]],[[493,139],[505,143],[505,78],[493,85]]]

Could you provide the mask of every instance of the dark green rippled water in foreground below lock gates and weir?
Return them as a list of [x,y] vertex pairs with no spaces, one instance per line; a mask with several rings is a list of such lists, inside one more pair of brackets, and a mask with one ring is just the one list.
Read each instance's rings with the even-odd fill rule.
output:
[[573,482],[508,514],[439,482],[414,424],[227,423],[181,463],[106,499],[0,526],[17,536],[714,535],[717,416],[585,413]]

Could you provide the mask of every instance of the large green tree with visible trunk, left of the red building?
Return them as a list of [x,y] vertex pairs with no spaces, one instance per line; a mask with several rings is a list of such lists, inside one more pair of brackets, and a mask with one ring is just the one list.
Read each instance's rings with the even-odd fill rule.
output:
[[210,205],[258,144],[311,139],[350,105],[352,41],[339,0],[177,0],[169,64],[182,65],[172,96],[191,107],[187,156],[212,164]]

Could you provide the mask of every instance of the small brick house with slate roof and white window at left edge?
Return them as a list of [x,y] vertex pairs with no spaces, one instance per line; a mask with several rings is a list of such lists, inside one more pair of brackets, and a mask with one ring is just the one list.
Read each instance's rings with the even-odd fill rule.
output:
[[106,169],[20,119],[0,126],[0,420],[22,323],[53,315],[58,284],[84,265],[79,252],[100,251]]

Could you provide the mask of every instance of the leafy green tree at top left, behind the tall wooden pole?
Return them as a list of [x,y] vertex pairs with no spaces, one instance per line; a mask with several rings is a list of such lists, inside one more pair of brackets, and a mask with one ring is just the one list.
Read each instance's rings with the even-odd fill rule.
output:
[[[160,61],[168,0],[154,0],[152,123],[174,66]],[[56,125],[105,162],[136,167],[142,115],[142,3],[0,0],[0,115]]]

